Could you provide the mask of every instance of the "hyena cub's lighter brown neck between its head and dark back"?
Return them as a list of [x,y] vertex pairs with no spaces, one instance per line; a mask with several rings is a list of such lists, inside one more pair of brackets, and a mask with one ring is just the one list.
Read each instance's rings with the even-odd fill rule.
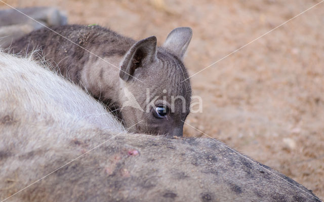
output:
[[[122,103],[120,93],[123,82],[120,81],[120,65],[135,40],[106,30],[89,44],[88,60],[80,73],[80,83],[97,99],[119,108]],[[97,57],[99,56],[99,57]]]

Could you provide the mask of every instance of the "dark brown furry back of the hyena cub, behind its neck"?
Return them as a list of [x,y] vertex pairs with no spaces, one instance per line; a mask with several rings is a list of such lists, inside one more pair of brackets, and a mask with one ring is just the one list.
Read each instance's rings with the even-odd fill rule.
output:
[[63,76],[76,84],[80,81],[80,72],[91,53],[102,58],[122,57],[135,43],[131,38],[97,25],[50,28],[52,30],[39,29],[18,39],[12,44],[11,52],[24,55],[39,50],[39,56],[44,56]]

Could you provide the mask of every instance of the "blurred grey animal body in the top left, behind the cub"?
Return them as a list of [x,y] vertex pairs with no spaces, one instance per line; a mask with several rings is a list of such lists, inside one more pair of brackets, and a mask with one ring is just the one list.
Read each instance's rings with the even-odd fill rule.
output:
[[[31,7],[23,9],[0,10],[0,48],[8,48],[13,41],[23,35],[43,28],[44,26],[64,25],[67,23],[66,16],[56,8]],[[28,18],[27,16],[38,21]]]

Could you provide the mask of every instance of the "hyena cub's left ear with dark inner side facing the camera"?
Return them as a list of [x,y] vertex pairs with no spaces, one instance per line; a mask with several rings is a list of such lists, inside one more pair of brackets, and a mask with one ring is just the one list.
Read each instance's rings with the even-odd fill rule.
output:
[[119,77],[127,82],[137,67],[144,62],[152,62],[156,58],[156,37],[150,36],[137,43],[125,55],[121,62]]

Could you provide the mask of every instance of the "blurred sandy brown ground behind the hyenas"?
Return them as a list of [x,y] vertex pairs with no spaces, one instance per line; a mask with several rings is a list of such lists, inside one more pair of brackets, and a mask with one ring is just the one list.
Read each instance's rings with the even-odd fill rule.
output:
[[[55,6],[69,23],[110,27],[158,43],[178,26],[193,38],[190,75],[248,44],[319,1],[5,1]],[[0,3],[1,8],[7,8]],[[187,123],[252,156],[324,198],[324,3],[191,78],[203,113]],[[185,126],[189,137],[206,137]]]

